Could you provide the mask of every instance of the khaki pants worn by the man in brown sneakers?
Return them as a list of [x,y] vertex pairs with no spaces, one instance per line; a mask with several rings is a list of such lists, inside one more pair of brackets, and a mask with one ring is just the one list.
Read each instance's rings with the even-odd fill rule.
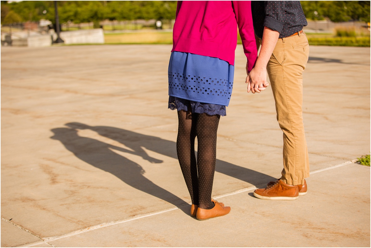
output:
[[282,181],[304,184],[309,177],[302,103],[303,71],[308,62],[309,45],[305,33],[278,39],[267,64],[267,72],[276,102],[277,120],[283,131]]

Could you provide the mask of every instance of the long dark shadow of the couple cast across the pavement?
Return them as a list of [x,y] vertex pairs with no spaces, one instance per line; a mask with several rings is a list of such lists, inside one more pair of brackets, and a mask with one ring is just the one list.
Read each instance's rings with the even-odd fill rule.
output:
[[[117,150],[129,154],[135,154],[151,163],[162,163],[161,160],[148,156],[142,147],[177,159],[176,143],[174,141],[164,140],[155,136],[139,134],[115,127],[89,126],[82,123],[67,123],[66,126],[68,128],[52,129],[51,131],[54,133],[54,136],[51,138],[59,140],[67,150],[71,151],[79,159],[113,174],[135,189],[165,200],[178,208],[182,207],[182,210],[184,209],[183,206],[188,205],[187,202],[178,198],[178,196],[175,196],[173,193],[162,189],[148,180],[143,175],[144,170],[139,164],[112,151]],[[77,133],[78,130],[84,129],[95,131],[103,137],[118,141],[131,150],[113,146],[93,138],[79,136]],[[255,186],[276,180],[276,178],[266,174],[218,159],[216,161],[216,171]]]

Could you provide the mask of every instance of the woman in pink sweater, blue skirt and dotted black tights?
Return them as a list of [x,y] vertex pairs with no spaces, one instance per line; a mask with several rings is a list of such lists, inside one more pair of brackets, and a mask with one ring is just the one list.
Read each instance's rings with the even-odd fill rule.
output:
[[168,107],[178,112],[178,160],[192,200],[191,216],[199,220],[230,212],[211,199],[211,191],[219,119],[232,94],[237,25],[249,73],[257,56],[250,1],[178,1]]

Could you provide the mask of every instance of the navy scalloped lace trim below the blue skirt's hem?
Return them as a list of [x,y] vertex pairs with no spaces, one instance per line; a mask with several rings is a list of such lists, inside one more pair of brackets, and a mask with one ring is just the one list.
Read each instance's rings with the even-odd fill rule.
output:
[[206,113],[208,115],[220,115],[220,116],[227,115],[226,106],[223,105],[195,102],[178,97],[169,96],[168,108],[170,108],[171,110],[188,111],[189,106],[191,106],[192,113],[198,114]]

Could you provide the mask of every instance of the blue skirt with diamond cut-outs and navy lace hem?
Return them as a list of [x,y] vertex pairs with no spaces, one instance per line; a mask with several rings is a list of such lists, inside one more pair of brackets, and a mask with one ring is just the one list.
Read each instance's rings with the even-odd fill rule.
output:
[[[204,106],[209,110],[217,108],[219,111],[220,105],[225,109],[232,95],[233,76],[234,66],[221,59],[172,52],[168,69],[169,108],[175,109],[175,99],[184,99],[190,101],[189,103],[216,105]],[[220,115],[225,115],[225,111]]]

